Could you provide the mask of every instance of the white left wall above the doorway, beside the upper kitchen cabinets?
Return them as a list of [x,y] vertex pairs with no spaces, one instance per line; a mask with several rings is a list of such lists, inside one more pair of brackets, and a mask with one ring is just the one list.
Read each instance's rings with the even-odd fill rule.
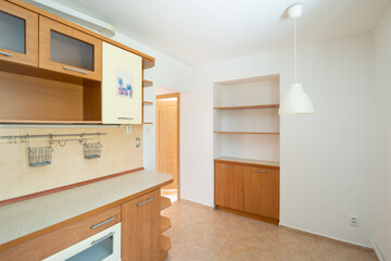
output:
[[156,60],[154,67],[144,71],[144,78],[152,80],[154,86],[146,88],[144,91],[144,100],[153,101],[153,105],[144,107],[144,120],[146,122],[153,122],[153,125],[144,125],[143,132],[143,165],[147,170],[155,170],[156,86],[168,87],[177,91],[190,91],[192,87],[193,69],[119,33],[116,33],[113,39],[154,57]]

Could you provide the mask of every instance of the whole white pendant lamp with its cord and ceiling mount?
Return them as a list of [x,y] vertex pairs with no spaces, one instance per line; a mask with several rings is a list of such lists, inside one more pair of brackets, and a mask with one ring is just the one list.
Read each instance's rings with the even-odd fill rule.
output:
[[298,83],[298,22],[303,13],[303,5],[295,4],[288,9],[288,16],[294,21],[294,84],[289,87],[288,94],[282,99],[278,113],[280,115],[290,114],[313,114],[313,103],[305,94],[302,84]]

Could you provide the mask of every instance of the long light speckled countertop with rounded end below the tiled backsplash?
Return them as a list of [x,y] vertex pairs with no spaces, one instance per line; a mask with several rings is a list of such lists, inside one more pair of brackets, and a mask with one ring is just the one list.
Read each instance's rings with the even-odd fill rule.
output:
[[0,245],[171,179],[169,174],[139,171],[0,207]]

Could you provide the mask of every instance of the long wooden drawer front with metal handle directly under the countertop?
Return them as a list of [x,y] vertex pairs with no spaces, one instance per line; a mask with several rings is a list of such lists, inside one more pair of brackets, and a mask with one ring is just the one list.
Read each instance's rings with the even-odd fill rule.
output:
[[0,260],[42,260],[121,222],[121,206],[0,253]]

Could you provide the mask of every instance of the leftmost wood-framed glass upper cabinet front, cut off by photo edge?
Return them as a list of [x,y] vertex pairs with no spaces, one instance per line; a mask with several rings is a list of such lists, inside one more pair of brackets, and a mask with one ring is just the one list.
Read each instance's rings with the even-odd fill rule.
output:
[[38,14],[0,1],[0,61],[38,66]]

